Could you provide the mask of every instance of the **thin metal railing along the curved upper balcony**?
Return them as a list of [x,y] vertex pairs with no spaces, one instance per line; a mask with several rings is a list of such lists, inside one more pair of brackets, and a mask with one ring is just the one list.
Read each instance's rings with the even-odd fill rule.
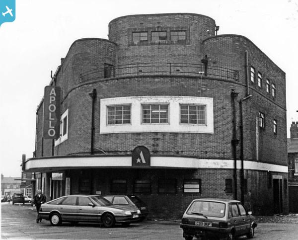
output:
[[95,80],[100,78],[119,78],[128,76],[173,75],[205,76],[225,80],[239,80],[239,71],[220,66],[188,63],[138,63],[107,66],[80,74],[80,79]]

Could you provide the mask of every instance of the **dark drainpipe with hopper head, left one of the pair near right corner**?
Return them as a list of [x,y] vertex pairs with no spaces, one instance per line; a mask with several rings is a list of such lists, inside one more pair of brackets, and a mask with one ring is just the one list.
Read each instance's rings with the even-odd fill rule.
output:
[[237,127],[236,127],[236,105],[235,101],[238,96],[238,92],[234,89],[231,90],[232,106],[233,106],[233,139],[231,141],[233,147],[233,158],[234,158],[234,199],[237,199],[237,145],[239,140],[237,139]]

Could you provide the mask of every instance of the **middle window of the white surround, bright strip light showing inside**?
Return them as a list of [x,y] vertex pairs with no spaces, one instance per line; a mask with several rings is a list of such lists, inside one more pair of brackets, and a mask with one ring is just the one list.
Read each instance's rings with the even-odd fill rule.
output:
[[142,123],[168,123],[167,104],[143,104]]

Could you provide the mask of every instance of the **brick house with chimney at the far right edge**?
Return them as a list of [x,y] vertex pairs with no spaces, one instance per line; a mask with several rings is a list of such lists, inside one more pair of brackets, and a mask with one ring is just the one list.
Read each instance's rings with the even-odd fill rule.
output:
[[288,139],[289,211],[298,212],[298,122],[292,122]]

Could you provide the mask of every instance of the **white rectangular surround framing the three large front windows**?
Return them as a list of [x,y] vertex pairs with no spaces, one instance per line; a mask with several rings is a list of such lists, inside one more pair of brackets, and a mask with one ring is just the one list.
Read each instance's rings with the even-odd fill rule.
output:
[[[116,105],[131,105],[131,124],[107,124],[108,106]],[[148,107],[146,112],[143,112],[144,106],[148,105],[151,108]],[[153,109],[152,105],[156,105],[156,109],[155,107]],[[165,105],[165,109],[163,109],[163,105]],[[200,112],[199,108],[199,124],[181,123],[181,105],[205,106],[205,117],[202,109]],[[165,95],[102,98],[100,99],[100,116],[103,116],[100,118],[100,134],[142,132],[214,133],[213,98],[211,97]],[[143,119],[146,120],[144,123]],[[205,119],[204,124],[202,124],[202,119]]]

